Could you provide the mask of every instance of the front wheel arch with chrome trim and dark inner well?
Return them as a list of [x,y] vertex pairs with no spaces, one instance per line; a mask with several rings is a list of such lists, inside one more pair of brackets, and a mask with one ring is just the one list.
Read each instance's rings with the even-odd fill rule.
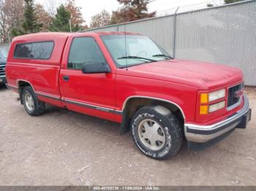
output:
[[121,134],[126,133],[129,130],[129,122],[132,119],[132,115],[143,106],[159,105],[169,109],[170,112],[176,114],[178,120],[183,125],[185,122],[185,114],[181,109],[181,106],[173,101],[165,100],[162,98],[154,98],[149,96],[130,96],[124,101],[122,107],[122,122],[121,122]]

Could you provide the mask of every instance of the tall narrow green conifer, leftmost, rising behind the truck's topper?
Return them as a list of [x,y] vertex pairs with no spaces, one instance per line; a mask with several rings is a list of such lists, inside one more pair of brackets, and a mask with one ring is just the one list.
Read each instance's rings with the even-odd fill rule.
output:
[[42,23],[37,22],[37,14],[34,9],[34,0],[24,0],[24,21],[22,28],[13,28],[12,36],[32,34],[41,31]]

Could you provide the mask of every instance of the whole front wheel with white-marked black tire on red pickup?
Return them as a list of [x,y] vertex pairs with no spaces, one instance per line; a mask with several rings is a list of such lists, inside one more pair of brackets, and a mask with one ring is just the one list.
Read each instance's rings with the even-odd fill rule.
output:
[[178,118],[163,106],[139,109],[132,117],[131,129],[138,149],[158,160],[176,155],[184,140]]

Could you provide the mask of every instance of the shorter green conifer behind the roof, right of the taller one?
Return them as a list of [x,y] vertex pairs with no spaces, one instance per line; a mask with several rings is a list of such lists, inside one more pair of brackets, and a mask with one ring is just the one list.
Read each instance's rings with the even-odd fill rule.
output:
[[[69,32],[69,20],[71,19],[70,12],[63,4],[57,9],[57,14],[53,17],[53,23],[50,23],[50,31]],[[71,23],[72,31],[80,31],[81,27],[78,24]]]

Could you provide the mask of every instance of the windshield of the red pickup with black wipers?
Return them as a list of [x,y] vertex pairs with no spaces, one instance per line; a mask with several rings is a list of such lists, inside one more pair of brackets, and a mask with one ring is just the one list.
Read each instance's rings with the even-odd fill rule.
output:
[[[147,36],[106,35],[101,38],[118,68],[171,59],[165,50]],[[125,52],[125,44],[127,44],[127,52]]]

